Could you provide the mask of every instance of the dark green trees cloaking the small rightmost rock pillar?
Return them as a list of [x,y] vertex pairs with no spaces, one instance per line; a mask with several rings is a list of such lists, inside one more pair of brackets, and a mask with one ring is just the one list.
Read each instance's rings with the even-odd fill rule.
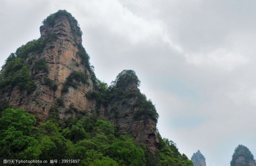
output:
[[231,166],[236,166],[236,159],[238,159],[239,156],[243,156],[245,158],[244,163],[239,163],[239,166],[248,166],[250,161],[255,162],[252,152],[246,146],[238,145],[232,155],[232,160],[230,162]]

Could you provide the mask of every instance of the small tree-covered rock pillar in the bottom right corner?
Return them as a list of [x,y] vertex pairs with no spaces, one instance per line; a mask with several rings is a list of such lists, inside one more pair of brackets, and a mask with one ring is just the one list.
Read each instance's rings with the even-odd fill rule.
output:
[[244,145],[238,145],[236,147],[234,154],[232,155],[232,160],[230,162],[231,166],[256,166],[256,161],[252,155],[252,152]]

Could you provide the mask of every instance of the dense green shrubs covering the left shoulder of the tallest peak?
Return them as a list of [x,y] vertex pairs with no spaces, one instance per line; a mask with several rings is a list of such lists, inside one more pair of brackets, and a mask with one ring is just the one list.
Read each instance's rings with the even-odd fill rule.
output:
[[43,40],[32,40],[19,47],[15,54],[11,53],[9,55],[9,57],[5,60],[3,70],[0,74],[1,91],[11,90],[15,86],[17,86],[20,90],[27,90],[28,93],[36,89],[36,84],[30,70],[47,73],[48,68],[46,62],[44,59],[39,59],[35,61],[31,68],[29,68],[28,63],[30,63],[35,56],[29,57],[28,62],[26,60],[30,53],[39,54],[43,51],[43,48]]

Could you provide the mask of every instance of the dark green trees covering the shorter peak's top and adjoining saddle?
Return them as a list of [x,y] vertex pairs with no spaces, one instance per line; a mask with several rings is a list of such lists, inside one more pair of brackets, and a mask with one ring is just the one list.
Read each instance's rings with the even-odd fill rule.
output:
[[[97,80],[96,90],[88,93],[86,97],[96,99],[103,105],[113,105],[114,102],[120,101],[130,107],[138,107],[138,111],[134,115],[135,119],[149,117],[157,122],[159,115],[156,112],[156,107],[150,99],[147,99],[145,94],[140,92],[139,86],[140,80],[136,73],[133,70],[123,70],[116,76],[115,81],[109,87],[107,87],[106,83]],[[137,96],[136,102],[131,105],[128,101],[135,96]]]

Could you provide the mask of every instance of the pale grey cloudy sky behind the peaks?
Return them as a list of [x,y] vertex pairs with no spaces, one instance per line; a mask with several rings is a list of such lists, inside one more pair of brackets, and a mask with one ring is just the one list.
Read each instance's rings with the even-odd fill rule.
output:
[[100,80],[135,70],[181,153],[199,149],[207,166],[230,165],[238,144],[256,155],[255,0],[1,0],[0,65],[59,9],[80,24]]

